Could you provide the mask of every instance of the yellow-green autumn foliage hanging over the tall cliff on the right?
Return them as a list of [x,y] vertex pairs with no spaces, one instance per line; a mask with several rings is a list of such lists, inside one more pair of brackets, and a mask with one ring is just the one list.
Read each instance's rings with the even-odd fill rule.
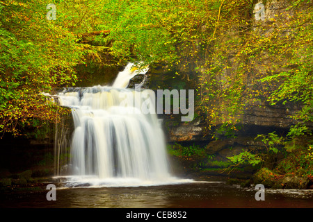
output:
[[250,1],[223,4],[205,63],[196,69],[198,105],[210,126],[235,124],[247,105],[264,101],[296,103],[301,109],[291,117],[312,121],[312,5],[286,4],[265,22],[254,21]]

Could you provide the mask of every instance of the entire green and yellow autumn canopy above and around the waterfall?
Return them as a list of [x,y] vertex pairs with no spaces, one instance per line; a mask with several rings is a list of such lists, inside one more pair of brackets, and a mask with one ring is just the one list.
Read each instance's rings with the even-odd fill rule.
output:
[[[41,92],[75,85],[83,68],[129,60],[163,62],[179,70],[175,79],[192,80],[207,129],[222,125],[216,135],[234,137],[233,126],[255,102],[296,103],[301,109],[291,117],[313,121],[313,10],[307,1],[291,1],[266,22],[254,20],[252,0],[54,1],[55,21],[45,18],[48,3],[0,4],[1,133],[19,135],[33,119],[57,121],[66,111]],[[305,130],[291,128],[288,136]],[[274,143],[269,151],[277,153],[273,139],[279,138],[268,139]]]

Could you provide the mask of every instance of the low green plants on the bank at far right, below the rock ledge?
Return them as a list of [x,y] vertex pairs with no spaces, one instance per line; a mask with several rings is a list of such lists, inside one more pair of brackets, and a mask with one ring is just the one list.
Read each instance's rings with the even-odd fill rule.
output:
[[[286,137],[279,137],[273,132],[268,135],[258,135],[255,139],[262,139],[266,152],[252,154],[252,151],[243,151],[239,155],[227,157],[234,164],[231,168],[245,164],[252,166],[261,164],[260,166],[263,167],[271,166],[274,172],[280,174],[301,172],[300,176],[312,176],[313,146],[312,137],[307,128],[296,129],[294,127]],[[278,162],[273,162],[279,153],[285,157]]]

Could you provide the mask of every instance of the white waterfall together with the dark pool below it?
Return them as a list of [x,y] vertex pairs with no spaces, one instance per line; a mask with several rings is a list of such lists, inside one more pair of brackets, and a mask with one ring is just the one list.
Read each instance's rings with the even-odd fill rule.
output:
[[112,86],[58,94],[60,105],[72,110],[74,132],[70,171],[55,177],[62,180],[56,201],[47,200],[47,191],[25,191],[0,198],[1,207],[313,207],[312,190],[266,189],[265,200],[257,201],[254,187],[173,176],[157,115],[142,112],[149,89],[126,88],[136,70],[128,65]]

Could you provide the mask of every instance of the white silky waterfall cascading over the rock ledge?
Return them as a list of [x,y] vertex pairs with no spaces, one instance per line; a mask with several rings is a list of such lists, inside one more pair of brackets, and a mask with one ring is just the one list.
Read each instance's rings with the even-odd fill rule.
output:
[[[120,72],[113,87],[65,89],[58,94],[60,105],[72,108],[74,119],[72,175],[67,176],[67,186],[125,187],[189,181],[170,175],[157,115],[141,112],[143,95],[150,89],[125,89],[136,72],[130,67]],[[154,99],[145,97],[145,102],[147,98]]]

